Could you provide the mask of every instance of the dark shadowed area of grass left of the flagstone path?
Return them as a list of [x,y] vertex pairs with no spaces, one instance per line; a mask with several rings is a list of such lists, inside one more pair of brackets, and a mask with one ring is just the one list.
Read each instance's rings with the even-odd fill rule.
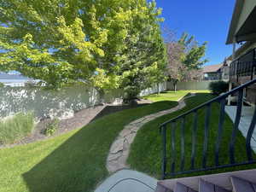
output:
[[[146,115],[148,110],[156,113],[155,108],[166,109],[170,104],[175,106],[177,102],[154,102],[96,119],[24,173],[27,188],[30,192],[90,192],[108,176],[108,150],[124,124]],[[56,145],[52,143],[52,148]]]

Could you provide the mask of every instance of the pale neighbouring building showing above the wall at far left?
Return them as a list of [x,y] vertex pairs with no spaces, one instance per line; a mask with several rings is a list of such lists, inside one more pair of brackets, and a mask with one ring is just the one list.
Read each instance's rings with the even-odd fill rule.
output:
[[23,87],[33,79],[26,78],[20,74],[0,73],[0,83],[10,87]]

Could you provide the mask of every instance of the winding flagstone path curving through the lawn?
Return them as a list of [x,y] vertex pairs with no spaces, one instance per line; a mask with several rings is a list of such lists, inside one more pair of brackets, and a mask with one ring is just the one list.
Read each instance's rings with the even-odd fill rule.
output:
[[149,114],[143,118],[132,121],[128,125],[125,125],[125,128],[119,133],[119,136],[113,142],[108,153],[108,159],[106,163],[108,172],[113,173],[125,168],[129,168],[129,166],[126,164],[126,160],[129,156],[131,143],[137,135],[137,131],[151,120],[184,108],[186,106],[184,99],[187,99],[191,96],[195,96],[195,94],[191,94],[190,96],[181,99],[175,108]]

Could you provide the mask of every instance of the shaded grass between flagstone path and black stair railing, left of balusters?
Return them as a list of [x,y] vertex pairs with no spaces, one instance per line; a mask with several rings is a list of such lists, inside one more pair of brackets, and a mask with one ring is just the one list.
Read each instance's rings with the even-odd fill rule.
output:
[[[197,93],[195,97],[185,99],[185,108],[174,113],[163,115],[143,125],[140,131],[137,132],[137,137],[134,142],[131,144],[131,153],[127,160],[131,169],[160,178],[162,141],[157,128],[160,127],[160,124],[163,122],[175,118],[191,108],[195,108],[198,104],[206,102],[208,100],[207,95],[210,96],[210,94],[203,94],[203,96],[200,97],[200,101],[193,102],[193,99],[195,100],[201,94],[202,93]],[[210,98],[212,98],[212,96],[210,96]],[[144,148],[147,148],[147,150],[144,150]]]

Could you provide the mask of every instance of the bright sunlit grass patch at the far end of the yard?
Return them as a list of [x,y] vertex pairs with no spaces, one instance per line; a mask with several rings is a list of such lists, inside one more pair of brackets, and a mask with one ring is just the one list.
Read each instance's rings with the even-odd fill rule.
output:
[[148,99],[152,102],[160,101],[178,101],[183,96],[189,93],[209,93],[209,90],[177,90],[176,92],[169,90],[166,92],[161,92],[160,94],[153,94],[149,96],[143,96],[144,99]]

